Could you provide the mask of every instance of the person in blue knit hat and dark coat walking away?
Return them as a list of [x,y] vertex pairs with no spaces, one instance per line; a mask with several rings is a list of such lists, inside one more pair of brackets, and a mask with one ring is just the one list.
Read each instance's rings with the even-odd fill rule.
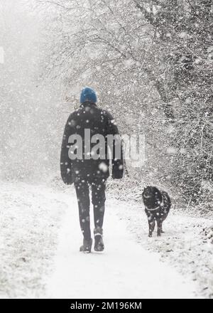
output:
[[[76,140],[72,139],[73,135]],[[109,135],[116,138],[111,142],[112,144],[109,144],[107,140]],[[104,138],[104,144],[99,146],[97,156],[94,157],[92,155],[92,148],[95,146],[93,139],[100,138],[100,136]],[[86,137],[89,137],[89,143]],[[102,142],[101,139],[99,141]],[[80,144],[82,147],[79,147]],[[91,147],[89,147],[90,144]],[[91,149],[88,150],[88,147]],[[118,127],[111,114],[97,106],[97,95],[94,90],[86,87],[80,96],[80,108],[72,112],[67,120],[60,158],[62,180],[67,185],[75,184],[80,226],[84,236],[80,251],[84,253],[91,253],[92,250],[89,186],[92,187],[94,206],[94,250],[104,251],[103,223],[105,190],[110,166],[109,150],[111,151],[112,178],[122,179],[124,159]],[[119,156],[116,155],[118,151]]]

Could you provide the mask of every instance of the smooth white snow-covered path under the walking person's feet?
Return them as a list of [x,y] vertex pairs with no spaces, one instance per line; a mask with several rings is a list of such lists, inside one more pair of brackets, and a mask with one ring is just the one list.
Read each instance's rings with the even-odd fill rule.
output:
[[[194,298],[195,286],[186,282],[158,255],[134,242],[112,205],[107,206],[103,254],[84,255],[77,201],[67,196],[55,270],[48,281],[50,298]],[[69,205],[70,204],[70,205]]]

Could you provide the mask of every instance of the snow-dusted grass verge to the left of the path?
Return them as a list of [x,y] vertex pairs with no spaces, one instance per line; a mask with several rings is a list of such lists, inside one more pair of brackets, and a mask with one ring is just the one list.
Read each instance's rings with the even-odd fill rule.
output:
[[0,298],[38,297],[50,272],[64,203],[44,186],[1,182]]

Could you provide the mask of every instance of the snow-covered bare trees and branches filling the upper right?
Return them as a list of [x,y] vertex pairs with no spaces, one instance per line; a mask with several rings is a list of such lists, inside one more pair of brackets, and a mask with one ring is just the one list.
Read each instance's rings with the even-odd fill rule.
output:
[[55,16],[48,73],[93,82],[123,121],[144,117],[146,171],[200,199],[212,181],[212,1],[38,2]]

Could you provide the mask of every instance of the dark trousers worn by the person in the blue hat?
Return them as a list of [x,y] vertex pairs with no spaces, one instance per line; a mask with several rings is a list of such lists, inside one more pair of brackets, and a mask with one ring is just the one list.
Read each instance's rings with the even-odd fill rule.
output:
[[77,193],[77,201],[79,206],[80,226],[84,239],[91,239],[90,218],[89,218],[89,186],[92,186],[92,204],[94,206],[94,226],[95,228],[103,227],[104,211],[105,211],[105,190],[106,179],[93,178],[84,179],[78,178],[75,181],[75,189]]

